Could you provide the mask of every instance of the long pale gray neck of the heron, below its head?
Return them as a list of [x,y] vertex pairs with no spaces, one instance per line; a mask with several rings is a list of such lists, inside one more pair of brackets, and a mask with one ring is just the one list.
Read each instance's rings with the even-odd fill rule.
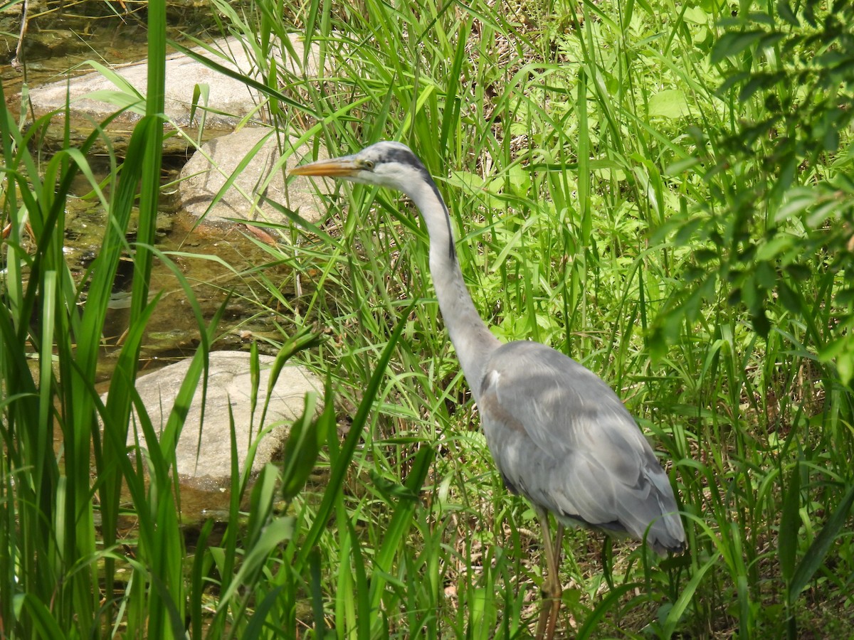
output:
[[430,236],[430,275],[439,299],[439,309],[457,351],[459,364],[469,382],[475,400],[480,397],[483,366],[489,354],[500,342],[489,332],[471,301],[465,287],[463,273],[459,271],[457,252],[453,246],[451,221],[442,196],[432,182],[419,182],[408,190],[424,217]]

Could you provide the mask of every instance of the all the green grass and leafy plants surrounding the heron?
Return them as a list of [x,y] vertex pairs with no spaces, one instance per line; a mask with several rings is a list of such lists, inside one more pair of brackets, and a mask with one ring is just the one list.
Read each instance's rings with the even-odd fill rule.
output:
[[[270,96],[260,112],[280,130],[330,154],[409,143],[446,196],[495,332],[600,374],[670,461],[689,551],[659,562],[570,532],[559,629],[851,629],[851,3],[213,9],[251,43]],[[161,69],[162,3],[148,19]],[[319,47],[321,78],[274,62],[292,32]],[[331,391],[298,422],[282,468],[254,486],[236,475],[221,538],[208,522],[189,544],[178,526],[179,412],[159,443],[143,416],[146,452],[126,456],[153,309],[146,274],[168,259],[153,246],[161,83],[152,74],[148,115],[113,159],[110,189],[86,160],[105,133],[43,157],[44,119],[24,126],[0,108],[0,637],[527,636],[541,583],[535,517],[494,472],[442,329],[425,233],[394,194],[342,188],[322,233],[284,229],[268,249],[307,289],[293,299],[281,293],[292,282],[266,281],[259,314],[280,318],[280,362],[311,364]],[[78,174],[111,221],[84,282],[61,253]],[[95,364],[122,253],[137,261],[137,321],[103,405]],[[218,322],[199,318],[184,398]],[[343,438],[333,402],[358,407]],[[327,488],[306,488],[315,460]],[[128,513],[138,527],[119,541]]]

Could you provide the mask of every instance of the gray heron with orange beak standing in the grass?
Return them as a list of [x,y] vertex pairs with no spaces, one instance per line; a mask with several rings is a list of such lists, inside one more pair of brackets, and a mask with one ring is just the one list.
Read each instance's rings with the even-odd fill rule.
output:
[[[480,411],[483,433],[507,489],[539,517],[547,574],[536,637],[551,638],[563,588],[564,526],[646,540],[659,555],[685,547],[667,474],[635,419],[602,379],[538,342],[502,344],[465,286],[442,195],[405,144],[298,166],[291,174],[329,176],[396,189],[418,207],[430,236],[430,275],[454,349]],[[550,536],[548,513],[558,523]]]

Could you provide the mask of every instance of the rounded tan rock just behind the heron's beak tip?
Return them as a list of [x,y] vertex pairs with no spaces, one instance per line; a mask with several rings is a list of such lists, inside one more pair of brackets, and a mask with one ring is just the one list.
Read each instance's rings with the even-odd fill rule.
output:
[[[290,152],[294,139],[277,136],[266,127],[244,127],[233,133],[213,138],[202,145],[181,170],[178,183],[178,205],[207,223],[229,222],[229,218],[247,221],[290,224],[290,219],[266,203],[266,199],[298,211],[308,222],[323,217],[325,207],[319,201],[314,183],[292,180],[285,183],[284,172],[290,171],[301,153],[288,154],[282,160],[281,147]],[[223,185],[232,173],[249,157],[249,162],[237,173],[233,183],[222,195]],[[331,181],[325,189],[332,189]]]

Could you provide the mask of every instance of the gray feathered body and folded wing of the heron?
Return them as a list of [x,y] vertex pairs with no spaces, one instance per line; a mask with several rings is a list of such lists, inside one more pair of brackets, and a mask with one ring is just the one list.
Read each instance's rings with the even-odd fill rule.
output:
[[670,482],[611,387],[536,342],[496,349],[479,389],[483,428],[512,491],[564,521],[643,538],[659,552],[685,540]]

